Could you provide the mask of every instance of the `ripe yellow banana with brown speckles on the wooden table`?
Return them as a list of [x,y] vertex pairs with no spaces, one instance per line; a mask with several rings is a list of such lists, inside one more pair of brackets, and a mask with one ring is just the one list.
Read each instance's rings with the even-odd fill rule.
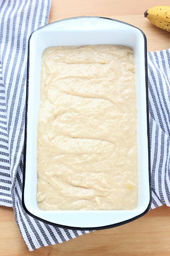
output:
[[158,28],[170,32],[170,6],[154,6],[144,12],[144,17]]

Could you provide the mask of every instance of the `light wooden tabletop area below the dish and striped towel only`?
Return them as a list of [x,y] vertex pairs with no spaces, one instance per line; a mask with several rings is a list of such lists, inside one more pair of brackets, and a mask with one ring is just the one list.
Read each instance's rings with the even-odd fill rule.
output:
[[20,236],[12,208],[1,206],[0,216],[0,256],[170,255],[170,208],[165,205],[125,225],[93,231],[32,252]]

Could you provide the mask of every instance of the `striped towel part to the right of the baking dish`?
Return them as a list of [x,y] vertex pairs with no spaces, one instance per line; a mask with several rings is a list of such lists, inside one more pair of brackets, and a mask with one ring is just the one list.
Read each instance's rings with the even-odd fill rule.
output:
[[170,206],[170,49],[148,52],[151,208]]

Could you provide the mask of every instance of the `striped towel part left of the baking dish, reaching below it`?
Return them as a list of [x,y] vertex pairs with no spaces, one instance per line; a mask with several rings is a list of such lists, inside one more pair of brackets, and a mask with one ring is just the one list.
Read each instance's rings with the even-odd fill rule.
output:
[[52,227],[34,220],[21,203],[28,38],[48,23],[50,0],[0,1],[0,204],[14,209],[29,250],[89,231]]

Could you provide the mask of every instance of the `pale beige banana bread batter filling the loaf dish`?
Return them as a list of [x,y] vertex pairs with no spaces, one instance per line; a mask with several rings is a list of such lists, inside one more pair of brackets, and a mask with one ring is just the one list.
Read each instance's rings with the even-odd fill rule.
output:
[[137,206],[133,52],[120,45],[47,48],[37,128],[41,210]]

